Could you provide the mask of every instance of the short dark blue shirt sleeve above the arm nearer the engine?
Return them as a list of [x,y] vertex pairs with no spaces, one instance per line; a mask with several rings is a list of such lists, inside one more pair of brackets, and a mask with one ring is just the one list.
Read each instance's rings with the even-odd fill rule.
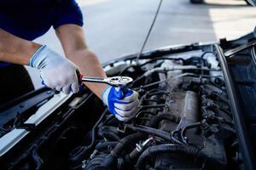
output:
[[53,27],[56,29],[65,24],[84,25],[82,11],[75,0],[69,0],[61,4]]

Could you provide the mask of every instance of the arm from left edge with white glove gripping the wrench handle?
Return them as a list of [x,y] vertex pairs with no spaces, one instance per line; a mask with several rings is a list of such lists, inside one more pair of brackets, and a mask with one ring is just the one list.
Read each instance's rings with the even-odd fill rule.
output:
[[[44,84],[68,94],[79,92],[77,66],[46,45],[26,41],[0,29],[0,61],[30,65],[40,71]],[[22,75],[21,75],[22,76]]]

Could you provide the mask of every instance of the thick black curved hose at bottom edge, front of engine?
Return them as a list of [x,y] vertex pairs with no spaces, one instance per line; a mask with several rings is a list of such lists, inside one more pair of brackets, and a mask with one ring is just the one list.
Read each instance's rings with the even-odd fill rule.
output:
[[145,169],[146,162],[150,156],[164,153],[180,153],[187,156],[199,156],[200,149],[190,145],[177,145],[177,144],[159,144],[149,147],[143,151],[143,154],[138,158],[136,169]]

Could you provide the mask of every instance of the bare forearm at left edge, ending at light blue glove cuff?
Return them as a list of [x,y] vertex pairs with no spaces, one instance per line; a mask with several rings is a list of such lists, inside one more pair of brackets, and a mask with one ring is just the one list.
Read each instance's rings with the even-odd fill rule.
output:
[[40,48],[40,44],[15,37],[0,29],[0,61],[19,65],[29,65],[32,54]]

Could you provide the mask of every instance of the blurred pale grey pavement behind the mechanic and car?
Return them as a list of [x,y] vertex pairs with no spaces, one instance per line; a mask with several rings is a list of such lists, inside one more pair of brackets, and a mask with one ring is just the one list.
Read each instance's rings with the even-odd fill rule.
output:
[[[142,47],[159,0],[77,0],[84,14],[88,46],[102,63]],[[234,39],[253,31],[256,8],[243,0],[164,0],[145,50],[172,44]],[[63,54],[51,29],[36,40]],[[27,68],[35,88],[41,86],[38,71]]]

